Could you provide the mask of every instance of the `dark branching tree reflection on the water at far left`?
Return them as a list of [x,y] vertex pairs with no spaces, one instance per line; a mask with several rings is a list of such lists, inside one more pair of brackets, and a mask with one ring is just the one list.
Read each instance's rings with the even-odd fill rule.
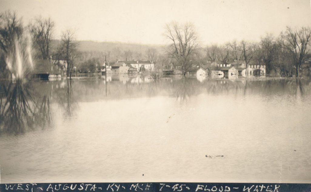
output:
[[2,83],[0,94],[0,133],[24,133],[51,121],[49,98],[34,99],[28,83]]

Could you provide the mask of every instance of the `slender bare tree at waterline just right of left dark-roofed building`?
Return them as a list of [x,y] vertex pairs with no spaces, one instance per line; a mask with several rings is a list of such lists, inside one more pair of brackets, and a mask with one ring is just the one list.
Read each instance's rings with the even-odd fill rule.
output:
[[61,54],[67,63],[67,78],[71,79],[74,59],[77,57],[77,43],[74,41],[74,32],[66,30],[62,34]]

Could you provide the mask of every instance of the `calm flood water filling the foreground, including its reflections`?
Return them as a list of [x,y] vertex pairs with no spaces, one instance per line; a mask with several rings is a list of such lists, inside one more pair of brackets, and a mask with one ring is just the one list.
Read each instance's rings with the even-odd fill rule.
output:
[[309,80],[107,80],[1,82],[1,183],[311,182]]

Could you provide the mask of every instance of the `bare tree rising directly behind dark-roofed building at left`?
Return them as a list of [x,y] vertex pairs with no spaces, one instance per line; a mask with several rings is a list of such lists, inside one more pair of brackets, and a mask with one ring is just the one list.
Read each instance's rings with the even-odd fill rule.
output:
[[42,59],[49,59],[51,39],[55,23],[51,18],[43,19],[41,16],[30,23],[29,29],[32,34],[36,47],[41,53]]

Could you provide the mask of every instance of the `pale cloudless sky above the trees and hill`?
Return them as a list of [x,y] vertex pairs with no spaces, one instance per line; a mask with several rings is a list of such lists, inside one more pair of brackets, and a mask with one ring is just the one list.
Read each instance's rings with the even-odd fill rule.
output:
[[54,38],[75,31],[77,40],[165,44],[165,24],[192,22],[202,44],[259,41],[286,26],[311,25],[310,0],[0,0],[27,24],[54,20]]

